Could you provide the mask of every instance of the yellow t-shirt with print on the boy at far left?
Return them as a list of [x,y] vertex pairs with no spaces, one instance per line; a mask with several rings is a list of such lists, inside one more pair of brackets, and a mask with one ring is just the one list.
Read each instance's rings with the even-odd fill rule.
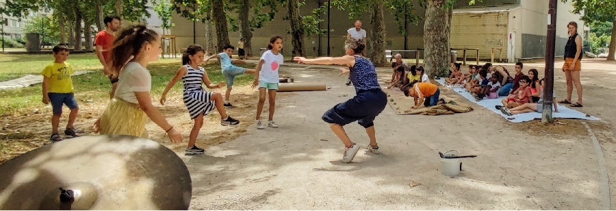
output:
[[40,75],[44,77],[49,77],[49,84],[47,86],[47,92],[50,93],[72,93],[75,92],[73,89],[73,79],[70,78],[70,75],[73,75],[73,67],[68,64],[68,62],[64,63],[51,63],[40,72]]

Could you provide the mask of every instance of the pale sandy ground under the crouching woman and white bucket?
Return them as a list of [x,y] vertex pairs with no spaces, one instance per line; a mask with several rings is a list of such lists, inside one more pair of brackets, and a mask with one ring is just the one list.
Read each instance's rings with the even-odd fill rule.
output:
[[[204,155],[180,153],[193,179],[191,209],[601,209],[587,134],[529,133],[478,106],[448,116],[398,116],[388,106],[375,121],[382,153],[365,151],[368,136],[352,123],[346,130],[362,149],[343,164],[342,143],[320,116],[353,88],[333,69],[293,71],[296,82],[331,90],[280,97],[278,129],[252,123],[245,136]],[[463,160],[459,177],[446,177],[437,151],[449,149],[478,157]]]

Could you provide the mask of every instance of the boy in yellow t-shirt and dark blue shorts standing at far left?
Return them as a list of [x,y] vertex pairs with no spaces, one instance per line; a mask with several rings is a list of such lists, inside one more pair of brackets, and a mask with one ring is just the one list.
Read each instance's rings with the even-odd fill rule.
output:
[[68,125],[64,134],[68,136],[78,137],[79,132],[73,123],[77,117],[79,106],[75,100],[75,90],[73,90],[73,67],[66,62],[68,59],[68,47],[66,45],[56,45],[53,47],[53,63],[47,65],[40,73],[43,75],[42,83],[42,102],[45,104],[51,103],[53,108],[53,116],[51,117],[51,141],[63,140],[57,133],[57,127],[60,124],[60,116],[62,116],[62,104],[65,104],[70,109],[68,114]]

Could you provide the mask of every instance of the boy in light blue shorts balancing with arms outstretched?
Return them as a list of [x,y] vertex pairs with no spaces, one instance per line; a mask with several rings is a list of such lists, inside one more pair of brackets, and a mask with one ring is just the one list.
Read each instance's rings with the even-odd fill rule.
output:
[[231,95],[231,90],[233,89],[233,79],[235,79],[235,76],[242,75],[244,73],[255,74],[255,69],[245,69],[243,67],[231,64],[233,62],[248,64],[242,60],[231,59],[233,57],[233,50],[235,50],[233,46],[224,45],[224,47],[222,47],[222,53],[211,55],[205,59],[205,62],[203,62],[205,64],[208,60],[214,57],[220,59],[220,68],[222,69],[222,75],[224,75],[224,82],[227,82],[227,92],[224,93],[224,106],[227,107],[233,106],[229,103],[229,95]]

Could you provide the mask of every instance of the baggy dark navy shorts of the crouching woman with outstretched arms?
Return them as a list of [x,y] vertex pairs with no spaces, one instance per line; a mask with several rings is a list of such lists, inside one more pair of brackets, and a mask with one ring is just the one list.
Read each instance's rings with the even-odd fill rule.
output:
[[357,95],[339,103],[323,114],[323,121],[346,125],[357,121],[364,128],[372,127],[374,119],[387,105],[387,95],[381,89],[360,90]]

